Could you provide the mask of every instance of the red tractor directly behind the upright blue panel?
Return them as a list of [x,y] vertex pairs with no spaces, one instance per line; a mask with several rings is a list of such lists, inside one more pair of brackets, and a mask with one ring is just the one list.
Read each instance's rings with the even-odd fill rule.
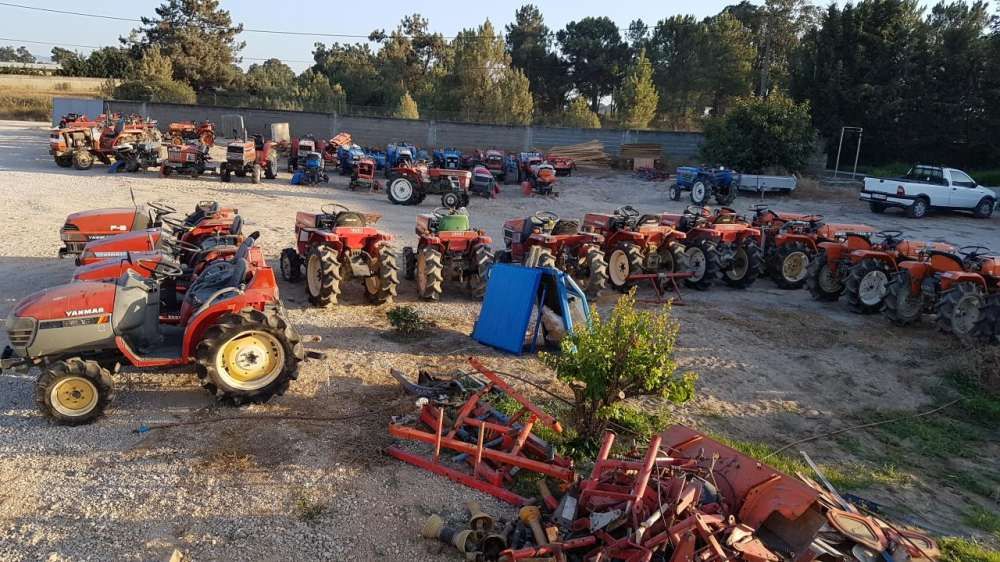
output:
[[604,237],[581,232],[577,221],[538,211],[504,222],[503,238],[506,248],[497,254],[499,262],[554,267],[586,280],[584,290],[590,295],[607,286],[608,264],[601,251]]

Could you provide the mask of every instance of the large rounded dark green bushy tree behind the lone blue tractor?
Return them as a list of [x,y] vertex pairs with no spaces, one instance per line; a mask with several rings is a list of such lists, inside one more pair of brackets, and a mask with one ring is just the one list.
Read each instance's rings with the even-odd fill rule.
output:
[[797,172],[812,155],[815,136],[809,102],[772,92],[739,98],[725,115],[709,120],[701,151],[706,161],[748,173]]

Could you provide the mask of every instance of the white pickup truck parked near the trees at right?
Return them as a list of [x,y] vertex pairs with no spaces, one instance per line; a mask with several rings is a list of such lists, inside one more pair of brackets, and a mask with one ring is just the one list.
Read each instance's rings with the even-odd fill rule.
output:
[[902,207],[906,216],[917,219],[932,208],[972,211],[977,218],[989,218],[997,202],[995,191],[961,170],[920,164],[902,177],[865,178],[860,198],[873,213]]

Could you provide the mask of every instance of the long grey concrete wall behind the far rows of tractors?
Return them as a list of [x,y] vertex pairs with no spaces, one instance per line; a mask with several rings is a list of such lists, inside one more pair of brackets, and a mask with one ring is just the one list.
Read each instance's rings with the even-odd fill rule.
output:
[[[209,120],[217,125],[223,115],[243,115],[250,134],[269,134],[271,123],[288,123],[292,136],[312,133],[331,137],[347,131],[354,142],[362,146],[385,146],[407,141],[421,148],[454,146],[459,149],[496,147],[510,151],[547,150],[553,146],[578,144],[591,140],[604,143],[608,154],[617,155],[622,144],[655,143],[663,146],[670,159],[690,159],[696,156],[702,142],[701,133],[672,131],[630,131],[622,129],[574,129],[561,127],[512,127],[451,123],[443,121],[410,121],[380,117],[350,117],[328,113],[277,111],[233,107],[142,103],[111,100],[109,111],[148,115],[160,122],[161,128],[171,121]],[[223,134],[228,135],[228,131]]]

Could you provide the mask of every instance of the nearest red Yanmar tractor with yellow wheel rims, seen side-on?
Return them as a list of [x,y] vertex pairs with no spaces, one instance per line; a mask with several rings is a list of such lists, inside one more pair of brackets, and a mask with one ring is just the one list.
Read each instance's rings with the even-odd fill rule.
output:
[[[3,369],[41,369],[35,396],[57,423],[98,418],[113,394],[120,362],[135,367],[194,365],[217,400],[239,405],[281,395],[305,358],[301,338],[284,318],[274,273],[246,239],[231,260],[205,268],[163,314],[164,281],[175,265],[148,265],[114,283],[83,281],[24,298],[7,318],[10,346]],[[141,264],[140,264],[141,265]]]

